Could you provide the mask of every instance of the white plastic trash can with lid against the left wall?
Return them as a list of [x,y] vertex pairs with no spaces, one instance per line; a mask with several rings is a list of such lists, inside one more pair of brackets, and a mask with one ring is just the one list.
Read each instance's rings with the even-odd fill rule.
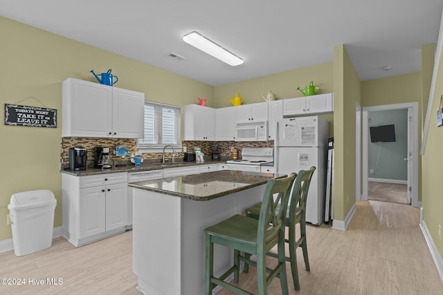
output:
[[11,196],[8,209],[16,256],[51,247],[56,205],[53,192],[47,189],[24,191]]

